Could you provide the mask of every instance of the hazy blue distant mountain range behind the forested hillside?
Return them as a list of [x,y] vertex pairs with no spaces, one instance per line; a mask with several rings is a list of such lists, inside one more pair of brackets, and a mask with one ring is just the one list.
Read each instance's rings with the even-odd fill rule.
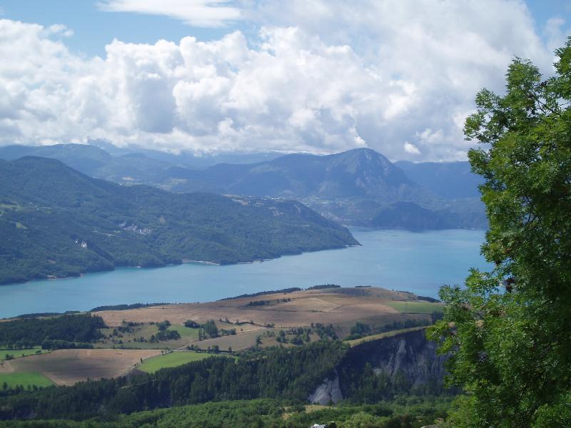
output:
[[[96,178],[145,183],[175,193],[300,200],[345,225],[411,230],[487,227],[477,190],[481,181],[467,162],[391,163],[380,153],[358,148],[328,156],[291,154],[197,169],[189,166],[196,165],[191,156],[153,152],[112,156],[89,145],[0,148],[0,158],[24,155],[57,158]],[[259,156],[271,158],[268,153]]]

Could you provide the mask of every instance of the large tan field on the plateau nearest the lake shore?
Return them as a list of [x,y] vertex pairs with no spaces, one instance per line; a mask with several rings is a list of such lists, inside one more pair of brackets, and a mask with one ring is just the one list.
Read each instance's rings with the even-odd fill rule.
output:
[[[285,301],[284,301],[285,300]],[[241,297],[207,303],[184,303],[142,307],[135,310],[97,312],[109,326],[127,322],[161,322],[169,320],[173,325],[183,325],[186,320],[203,323],[207,320],[230,320],[238,329],[238,322],[253,322],[263,327],[273,323],[276,327],[298,327],[312,322],[322,324],[345,322],[359,317],[402,312],[390,302],[419,302],[408,292],[370,288],[327,288],[276,293],[257,297]],[[251,305],[261,302],[260,305]],[[420,302],[424,305],[426,302]],[[431,304],[432,305],[432,304]],[[418,310],[417,307],[411,309]],[[243,329],[251,328],[243,324]],[[258,327],[258,328],[259,328]],[[228,328],[228,327],[226,327]]]

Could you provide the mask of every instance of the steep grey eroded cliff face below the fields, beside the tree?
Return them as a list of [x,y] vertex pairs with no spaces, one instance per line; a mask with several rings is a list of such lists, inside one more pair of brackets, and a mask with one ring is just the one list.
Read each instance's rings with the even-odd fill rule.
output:
[[355,346],[348,350],[334,374],[310,394],[310,402],[335,403],[357,394],[360,399],[380,399],[395,392],[442,392],[446,356],[437,355],[437,347],[426,339],[425,330]]

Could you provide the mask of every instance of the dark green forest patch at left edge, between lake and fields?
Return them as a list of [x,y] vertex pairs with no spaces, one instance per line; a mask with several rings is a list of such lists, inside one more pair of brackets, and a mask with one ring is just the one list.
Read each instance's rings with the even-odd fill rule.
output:
[[[100,338],[99,329],[103,327],[103,318],[91,314],[5,321],[0,322],[0,346],[12,349],[37,345],[48,349],[76,347],[71,343],[93,342]],[[62,342],[67,342],[68,346]]]

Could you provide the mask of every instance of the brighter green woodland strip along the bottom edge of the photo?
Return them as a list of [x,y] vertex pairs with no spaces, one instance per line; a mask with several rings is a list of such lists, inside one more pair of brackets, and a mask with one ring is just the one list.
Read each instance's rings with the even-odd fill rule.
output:
[[[338,428],[420,428],[441,420],[450,405],[448,397],[397,397],[391,402],[323,407],[308,412],[299,402],[253,399],[193,404],[91,420],[0,421],[15,428],[307,428],[335,422]],[[331,425],[333,427],[333,425]]]

